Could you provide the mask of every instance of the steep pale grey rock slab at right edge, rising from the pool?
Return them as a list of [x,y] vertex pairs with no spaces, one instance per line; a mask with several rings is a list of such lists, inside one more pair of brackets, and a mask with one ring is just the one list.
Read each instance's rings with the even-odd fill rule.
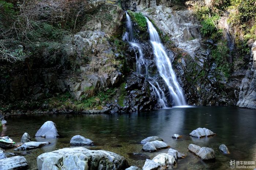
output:
[[237,106],[256,109],[256,41],[252,45],[248,70],[240,85]]

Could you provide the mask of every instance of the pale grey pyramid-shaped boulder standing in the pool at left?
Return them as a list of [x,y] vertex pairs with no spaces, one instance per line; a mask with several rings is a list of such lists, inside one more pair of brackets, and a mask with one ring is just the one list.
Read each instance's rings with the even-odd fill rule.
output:
[[37,131],[36,136],[42,137],[56,137],[59,136],[56,129],[56,124],[52,121],[45,122],[41,128]]

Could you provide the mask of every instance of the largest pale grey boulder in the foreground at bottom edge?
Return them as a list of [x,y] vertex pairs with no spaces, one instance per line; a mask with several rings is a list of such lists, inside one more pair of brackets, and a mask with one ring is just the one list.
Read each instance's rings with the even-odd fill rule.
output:
[[103,150],[89,150],[84,147],[63,148],[37,157],[38,170],[55,169],[115,169],[129,167],[126,159],[118,154]]

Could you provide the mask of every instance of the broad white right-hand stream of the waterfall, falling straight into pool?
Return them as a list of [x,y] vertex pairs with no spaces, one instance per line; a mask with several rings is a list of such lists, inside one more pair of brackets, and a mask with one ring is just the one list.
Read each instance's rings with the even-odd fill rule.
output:
[[148,23],[148,31],[150,42],[153,47],[155,56],[155,63],[160,76],[168,86],[169,93],[172,97],[173,104],[175,106],[186,105],[185,97],[179,85],[175,72],[172,69],[170,58],[168,57],[164,46],[161,43],[160,37],[153,24],[146,18]]

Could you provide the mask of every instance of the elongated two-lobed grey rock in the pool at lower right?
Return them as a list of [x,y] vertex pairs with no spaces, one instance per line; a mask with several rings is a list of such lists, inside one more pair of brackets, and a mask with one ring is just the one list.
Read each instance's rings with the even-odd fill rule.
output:
[[199,156],[203,161],[215,159],[215,152],[212,148],[189,144],[188,150]]

